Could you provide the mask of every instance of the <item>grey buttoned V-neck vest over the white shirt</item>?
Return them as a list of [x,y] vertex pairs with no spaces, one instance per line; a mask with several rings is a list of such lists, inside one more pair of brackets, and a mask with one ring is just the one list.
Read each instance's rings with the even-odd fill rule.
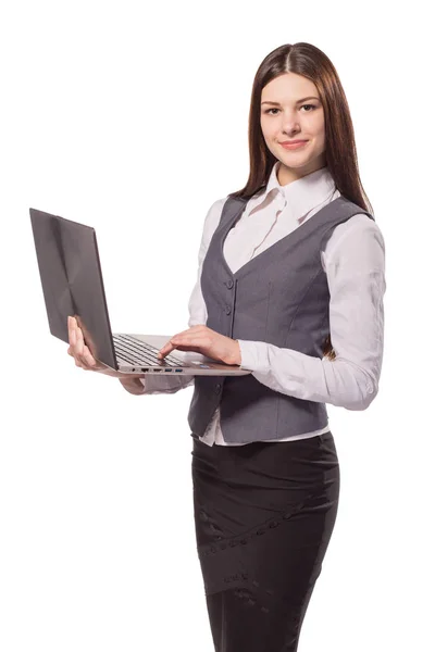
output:
[[[233,274],[223,254],[224,240],[247,201],[227,199],[203,261],[207,326],[234,339],[270,342],[322,359],[330,335],[330,290],[321,250],[338,224],[357,213],[374,217],[340,196]],[[203,436],[217,405],[223,438],[231,443],[282,439],[328,423],[324,403],[275,391],[252,374],[195,376],[187,417],[191,437]]]

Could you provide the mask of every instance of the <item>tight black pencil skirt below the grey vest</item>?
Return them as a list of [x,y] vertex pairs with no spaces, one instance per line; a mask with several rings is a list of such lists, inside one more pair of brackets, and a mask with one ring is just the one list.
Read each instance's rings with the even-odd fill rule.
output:
[[209,447],[194,437],[191,455],[197,551],[215,652],[296,652],[338,510],[331,430],[236,447]]

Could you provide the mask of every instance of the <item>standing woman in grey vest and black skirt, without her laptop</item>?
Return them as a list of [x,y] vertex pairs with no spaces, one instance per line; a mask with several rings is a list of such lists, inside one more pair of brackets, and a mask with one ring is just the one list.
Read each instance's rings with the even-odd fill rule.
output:
[[195,526],[215,650],[294,652],[338,510],[325,403],[365,410],[377,393],[385,246],[344,90],[314,46],[261,63],[249,151],[246,186],[206,217],[189,328],[160,355],[197,351],[252,374],[124,379],[74,319],[69,353],[132,393],[195,386]]

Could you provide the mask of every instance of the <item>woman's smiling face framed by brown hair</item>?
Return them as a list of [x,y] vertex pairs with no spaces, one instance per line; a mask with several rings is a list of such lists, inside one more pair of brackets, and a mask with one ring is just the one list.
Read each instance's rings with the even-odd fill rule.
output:
[[[265,143],[281,161],[277,171],[279,184],[285,186],[324,167],[324,115],[315,85],[296,73],[285,73],[264,86],[260,101]],[[281,145],[299,139],[307,142],[297,149],[286,149]]]

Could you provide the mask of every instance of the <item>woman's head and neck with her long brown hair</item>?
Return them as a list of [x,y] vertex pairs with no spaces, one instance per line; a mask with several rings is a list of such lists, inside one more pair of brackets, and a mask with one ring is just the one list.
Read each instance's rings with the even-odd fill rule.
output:
[[[372,212],[358,173],[345,91],[334,64],[315,46],[286,45],[265,57],[253,80],[248,131],[248,181],[228,197],[252,197],[276,161],[282,162],[281,185],[326,165],[340,192]],[[282,145],[296,140],[306,146],[291,150]]]

